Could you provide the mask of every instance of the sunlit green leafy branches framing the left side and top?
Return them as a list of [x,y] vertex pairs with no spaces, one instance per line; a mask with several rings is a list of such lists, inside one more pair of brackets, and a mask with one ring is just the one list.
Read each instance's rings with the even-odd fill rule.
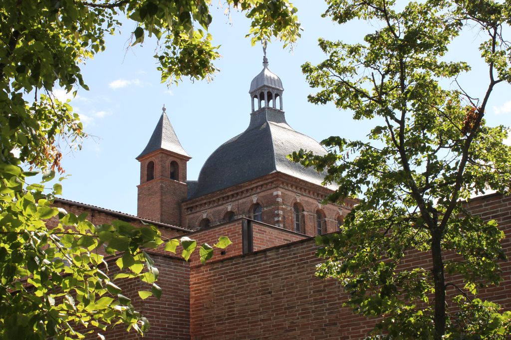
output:
[[[292,43],[299,36],[296,9],[287,0],[227,0],[229,8],[251,19],[252,42],[272,36]],[[142,279],[159,297],[158,271],[144,252],[181,244],[188,259],[197,242],[164,240],[153,226],[135,228],[122,221],[92,225],[52,206],[61,184],[45,188],[60,166],[62,148],[79,147],[85,136],[77,114],[52,94],[55,85],[87,90],[80,63],[105,48],[105,34],[114,34],[126,15],[137,22],[132,45],[154,35],[163,81],[187,76],[210,79],[219,57],[207,33],[212,16],[208,0],[5,0],[0,4],[0,337],[80,338],[76,326],[105,328],[125,323],[143,332],[148,322],[122,295],[115,280]],[[24,171],[24,164],[31,170]],[[29,184],[43,174],[42,183]],[[45,191],[46,190],[46,191]],[[50,190],[50,192],[48,191]],[[55,228],[47,220],[58,218]],[[164,244],[165,242],[165,244]],[[216,247],[229,240],[221,238]],[[106,255],[125,272],[110,277]],[[201,259],[213,254],[202,245]],[[145,270],[144,270],[145,268]]]

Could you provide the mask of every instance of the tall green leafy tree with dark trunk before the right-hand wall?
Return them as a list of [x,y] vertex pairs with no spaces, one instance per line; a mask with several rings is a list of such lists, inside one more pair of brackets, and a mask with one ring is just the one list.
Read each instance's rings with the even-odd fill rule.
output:
[[[511,189],[507,130],[484,120],[494,87],[511,83],[511,2],[327,4],[324,16],[339,24],[370,20],[377,30],[356,44],[319,39],[328,58],[302,66],[319,88],[309,101],[333,102],[375,126],[367,141],[323,140],[324,157],[303,150],[291,157],[327,169],[325,181],[339,186],[331,202],[360,196],[338,233],[317,237],[326,259],[317,275],[340,280],[355,312],[381,317],[372,338],[505,338],[510,312],[477,298],[501,280],[504,235],[463,200]],[[479,51],[488,75],[470,94],[457,78],[470,66],[445,57],[468,29],[485,36]],[[403,264],[420,254],[430,265]]]

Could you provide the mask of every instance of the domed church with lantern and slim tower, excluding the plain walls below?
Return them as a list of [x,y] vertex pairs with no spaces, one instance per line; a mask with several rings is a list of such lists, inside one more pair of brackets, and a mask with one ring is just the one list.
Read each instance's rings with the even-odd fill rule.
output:
[[286,123],[283,92],[264,57],[263,69],[250,83],[247,129],[213,152],[196,181],[187,179],[191,157],[164,108],[136,158],[141,166],[138,216],[191,230],[247,217],[308,236],[335,231],[354,201],[322,206],[319,202],[333,189],[321,185],[324,174],[287,159],[300,149],[327,152]]

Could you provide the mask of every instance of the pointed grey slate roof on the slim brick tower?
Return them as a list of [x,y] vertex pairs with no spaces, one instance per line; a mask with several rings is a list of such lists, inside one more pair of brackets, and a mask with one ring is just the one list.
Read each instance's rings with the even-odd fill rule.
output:
[[167,113],[165,113],[165,108],[161,113],[158,124],[156,124],[156,127],[154,128],[153,134],[151,135],[146,148],[136,157],[136,159],[159,149],[172,151],[176,154],[190,157],[187,152],[184,151],[179,139],[177,139],[174,128],[172,128],[172,124],[170,124],[169,117],[167,116]]

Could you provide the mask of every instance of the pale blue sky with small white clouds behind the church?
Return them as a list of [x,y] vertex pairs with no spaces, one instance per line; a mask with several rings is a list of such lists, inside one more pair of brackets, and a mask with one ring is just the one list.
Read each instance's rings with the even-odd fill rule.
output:
[[[213,1],[216,4],[216,1]],[[319,1],[296,1],[304,32],[292,50],[272,43],[267,48],[269,68],[284,85],[284,110],[295,130],[320,141],[331,135],[362,138],[370,122],[353,122],[350,112],[334,105],[316,106],[307,102],[314,92],[301,74],[300,65],[324,59],[317,46],[318,37],[359,42],[365,33],[374,32],[377,23],[351,22],[343,26],[320,17],[326,5]],[[63,166],[70,174],[63,182],[62,197],[104,208],[136,214],[136,185],[140,166],[135,157],[144,149],[165,104],[167,114],[183,148],[192,156],[188,179],[197,179],[207,157],[224,141],[248,126],[250,81],[262,69],[262,48],[251,46],[245,38],[249,21],[224,8],[212,6],[210,29],[215,44],[221,45],[220,68],[210,83],[184,79],[168,88],[160,83],[152,57],[156,42],[147,39],[142,46],[128,48],[135,24],[126,21],[122,34],[107,38],[107,49],[82,65],[82,74],[90,90],[78,89],[71,105],[81,115],[89,134],[81,151],[66,152]],[[467,32],[452,44],[449,57],[479,62],[478,32]],[[468,59],[467,59],[468,58]],[[487,84],[487,73],[474,70],[461,77],[473,96],[481,96],[480,84]],[[486,114],[490,125],[511,125],[511,86],[500,84]],[[66,95],[57,90],[61,99]],[[509,142],[509,141],[508,141]]]

